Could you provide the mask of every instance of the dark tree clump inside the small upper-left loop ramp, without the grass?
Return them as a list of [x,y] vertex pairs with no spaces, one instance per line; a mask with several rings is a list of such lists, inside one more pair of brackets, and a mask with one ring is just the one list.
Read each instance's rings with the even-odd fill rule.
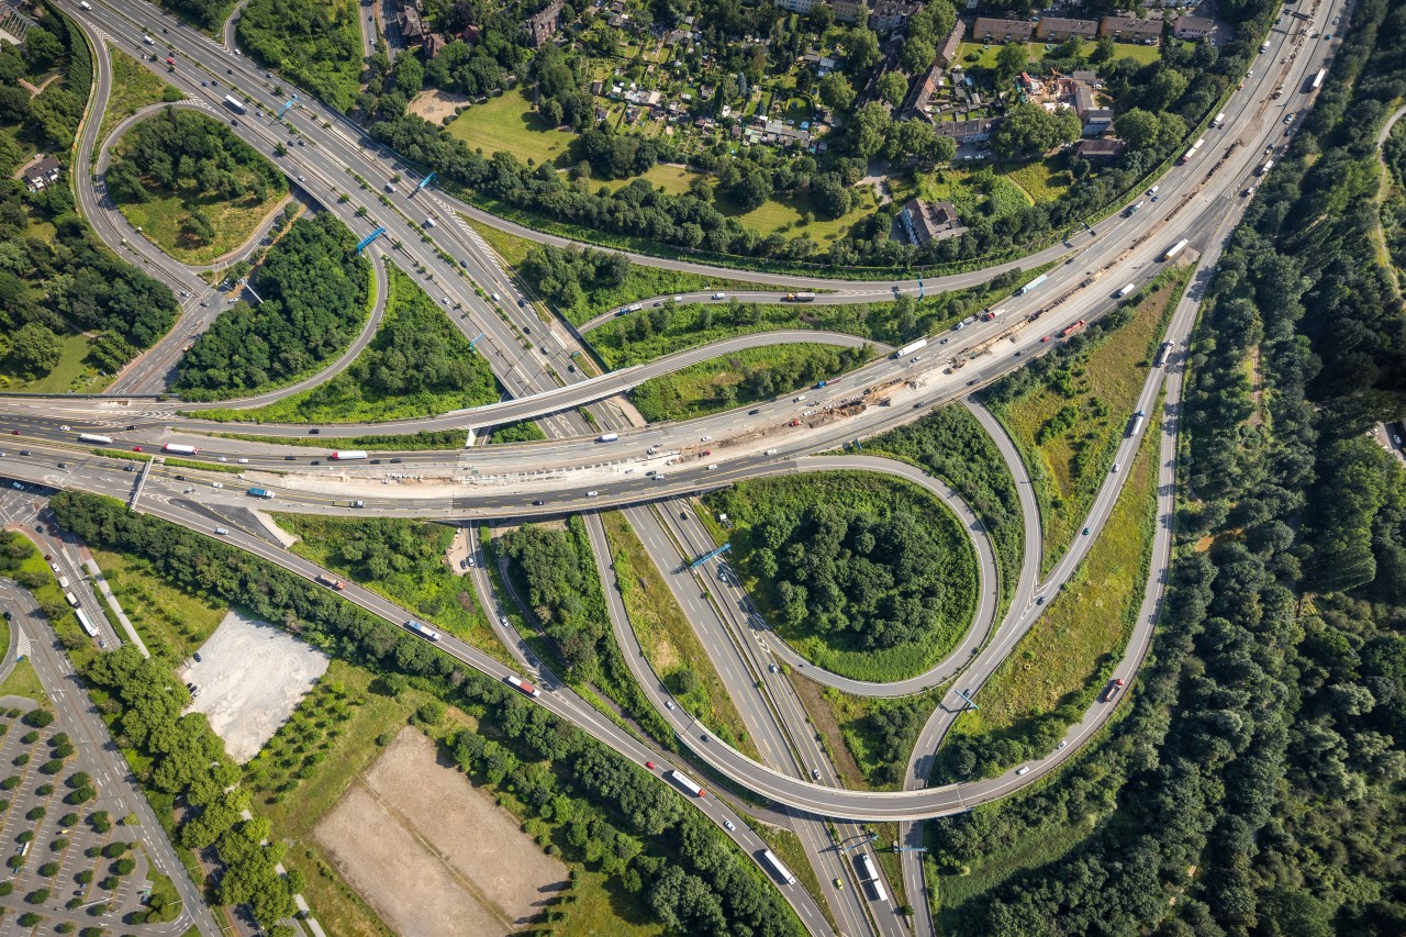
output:
[[121,139],[107,170],[107,190],[118,203],[145,203],[176,194],[188,205],[181,235],[197,243],[215,239],[201,203],[264,201],[284,193],[278,169],[208,114],[169,107],[143,120]]

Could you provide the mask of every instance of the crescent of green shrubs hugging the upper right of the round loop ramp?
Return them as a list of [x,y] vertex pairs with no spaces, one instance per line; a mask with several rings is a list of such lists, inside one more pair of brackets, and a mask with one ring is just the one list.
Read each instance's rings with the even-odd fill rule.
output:
[[917,422],[866,439],[863,452],[925,468],[962,495],[991,537],[1002,598],[1010,599],[1015,594],[1025,553],[1025,526],[1015,480],[995,443],[966,407],[952,404]]

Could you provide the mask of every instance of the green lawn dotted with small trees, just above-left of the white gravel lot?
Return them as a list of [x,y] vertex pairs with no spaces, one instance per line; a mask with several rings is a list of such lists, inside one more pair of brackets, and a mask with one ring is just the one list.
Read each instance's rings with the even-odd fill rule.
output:
[[125,553],[93,550],[112,595],[142,636],[146,649],[173,664],[200,650],[228,608],[176,587],[152,571],[150,563]]

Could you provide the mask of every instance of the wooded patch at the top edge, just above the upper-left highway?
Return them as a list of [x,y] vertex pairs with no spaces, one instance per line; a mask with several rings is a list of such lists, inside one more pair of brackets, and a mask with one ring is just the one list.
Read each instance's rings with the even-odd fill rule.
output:
[[353,0],[250,0],[235,35],[245,55],[346,113],[361,90],[360,15]]

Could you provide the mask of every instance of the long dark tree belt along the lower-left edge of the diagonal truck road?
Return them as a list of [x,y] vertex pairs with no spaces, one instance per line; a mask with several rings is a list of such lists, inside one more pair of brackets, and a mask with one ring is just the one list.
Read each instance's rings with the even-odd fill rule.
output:
[[129,514],[120,501],[60,492],[52,508],[60,525],[93,546],[136,553],[181,588],[238,602],[388,684],[413,681],[492,725],[491,737],[460,733],[451,744],[456,761],[478,781],[505,785],[538,817],[567,824],[567,846],[613,888],[640,893],[665,927],[716,937],[803,933],[761,871],[681,795],[505,684],[329,589],[208,536]]

